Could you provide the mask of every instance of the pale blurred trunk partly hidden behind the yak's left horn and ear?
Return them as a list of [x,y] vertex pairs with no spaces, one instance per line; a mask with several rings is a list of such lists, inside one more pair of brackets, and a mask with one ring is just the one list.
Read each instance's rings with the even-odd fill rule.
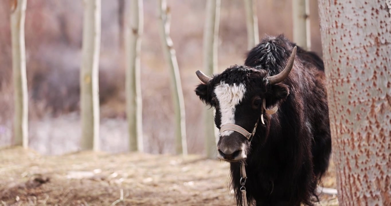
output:
[[[217,48],[219,41],[220,0],[206,1],[206,18],[203,37],[204,71],[208,76],[217,73]],[[213,115],[215,110],[204,110],[205,151],[208,158],[216,158],[216,140],[218,130]]]

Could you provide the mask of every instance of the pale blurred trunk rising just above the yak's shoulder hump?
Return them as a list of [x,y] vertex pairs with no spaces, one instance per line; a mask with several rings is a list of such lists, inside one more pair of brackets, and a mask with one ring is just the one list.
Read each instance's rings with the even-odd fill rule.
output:
[[259,43],[258,17],[256,16],[256,4],[253,0],[244,0],[247,25],[247,49],[251,50]]

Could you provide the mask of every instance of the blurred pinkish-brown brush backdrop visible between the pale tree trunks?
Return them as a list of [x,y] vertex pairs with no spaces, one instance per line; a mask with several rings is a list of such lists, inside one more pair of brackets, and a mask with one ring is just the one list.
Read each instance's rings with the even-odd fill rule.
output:
[[[292,39],[290,0],[258,0],[260,37],[285,34]],[[13,85],[10,10],[0,1],[0,146],[13,137]],[[126,0],[102,1],[99,65],[101,150],[127,151],[125,117],[124,14]],[[171,37],[178,57],[186,107],[189,153],[203,153],[203,104],[194,94],[202,69],[205,0],[169,0]],[[122,15],[121,15],[122,14]],[[321,55],[317,2],[310,2],[311,50]],[[29,147],[43,154],[63,154],[79,148],[79,69],[83,4],[74,0],[29,1],[25,41],[29,90]],[[244,4],[222,0],[219,31],[219,71],[243,64],[247,52]],[[169,68],[158,36],[156,1],[144,1],[141,52],[144,151],[174,152],[174,112]]]

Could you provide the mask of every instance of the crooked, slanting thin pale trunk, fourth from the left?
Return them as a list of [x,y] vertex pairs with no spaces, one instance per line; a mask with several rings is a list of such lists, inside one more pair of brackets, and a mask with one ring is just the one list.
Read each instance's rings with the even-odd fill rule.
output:
[[176,153],[187,155],[185,101],[183,100],[178,62],[170,37],[170,8],[167,7],[166,0],[158,0],[158,22],[164,57],[171,71],[171,88],[175,110]]

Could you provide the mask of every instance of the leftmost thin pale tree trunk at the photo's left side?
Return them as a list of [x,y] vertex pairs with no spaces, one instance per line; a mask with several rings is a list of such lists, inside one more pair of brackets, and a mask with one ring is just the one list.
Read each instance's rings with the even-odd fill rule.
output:
[[14,144],[27,148],[29,102],[27,96],[25,13],[27,0],[12,0],[11,4],[11,44],[12,69],[14,80]]

